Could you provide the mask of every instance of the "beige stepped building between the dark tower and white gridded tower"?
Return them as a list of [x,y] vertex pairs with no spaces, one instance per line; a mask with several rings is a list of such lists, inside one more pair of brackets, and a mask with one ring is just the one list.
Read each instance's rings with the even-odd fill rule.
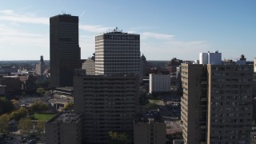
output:
[[86,62],[82,63],[82,69],[86,70],[86,74],[95,75],[95,54],[91,58],[86,59]]

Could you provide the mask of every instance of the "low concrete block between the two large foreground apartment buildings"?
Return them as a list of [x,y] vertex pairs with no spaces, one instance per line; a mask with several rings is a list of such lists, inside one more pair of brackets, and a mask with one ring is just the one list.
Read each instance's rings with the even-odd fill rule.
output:
[[165,144],[166,124],[154,122],[149,118],[147,122],[139,121],[134,123],[134,144]]

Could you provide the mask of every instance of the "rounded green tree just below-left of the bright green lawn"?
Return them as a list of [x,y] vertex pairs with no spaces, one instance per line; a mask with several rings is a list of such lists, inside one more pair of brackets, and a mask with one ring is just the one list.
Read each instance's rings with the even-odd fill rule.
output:
[[20,129],[23,134],[30,134],[30,131],[33,130],[33,122],[30,118],[21,118],[18,129]]

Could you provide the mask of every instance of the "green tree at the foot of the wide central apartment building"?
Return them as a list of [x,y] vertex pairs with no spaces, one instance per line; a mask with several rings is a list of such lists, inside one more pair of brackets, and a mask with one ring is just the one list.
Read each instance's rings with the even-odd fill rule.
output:
[[111,140],[110,143],[112,143],[112,144],[118,144],[118,143],[130,144],[130,143],[132,143],[132,138],[130,138],[130,136],[128,134],[126,134],[125,132],[110,131],[109,136],[110,136],[110,140]]

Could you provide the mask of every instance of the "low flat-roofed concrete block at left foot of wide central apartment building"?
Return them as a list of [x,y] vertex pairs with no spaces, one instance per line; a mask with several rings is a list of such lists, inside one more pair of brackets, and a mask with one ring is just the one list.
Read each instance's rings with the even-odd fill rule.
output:
[[47,144],[82,143],[81,114],[62,112],[46,122]]

